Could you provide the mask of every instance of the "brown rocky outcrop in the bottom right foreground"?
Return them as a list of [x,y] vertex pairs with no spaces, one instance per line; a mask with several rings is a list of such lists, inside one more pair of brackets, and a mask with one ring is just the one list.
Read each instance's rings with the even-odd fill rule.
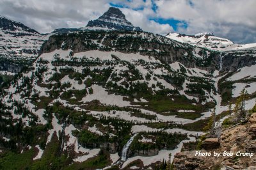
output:
[[[255,169],[255,123],[256,113],[252,114],[248,123],[237,125],[236,127],[223,130],[221,134],[221,147],[216,150],[207,150],[213,155],[214,151],[223,153],[224,151],[234,153],[233,156],[200,157],[195,156],[195,151],[184,151],[177,153],[173,159],[174,169]],[[237,152],[254,153],[252,157],[237,156]],[[206,152],[202,150],[202,152]]]

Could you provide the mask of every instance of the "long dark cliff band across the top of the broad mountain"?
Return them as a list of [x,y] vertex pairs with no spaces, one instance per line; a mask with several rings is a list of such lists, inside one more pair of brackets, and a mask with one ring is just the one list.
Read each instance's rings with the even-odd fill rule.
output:
[[124,31],[83,31],[68,35],[54,35],[42,47],[42,53],[55,49],[72,49],[74,53],[88,50],[116,50],[160,58],[166,63],[182,63],[187,68],[207,71],[236,71],[255,64],[252,53],[217,52],[186,43],[179,43],[152,33]]

